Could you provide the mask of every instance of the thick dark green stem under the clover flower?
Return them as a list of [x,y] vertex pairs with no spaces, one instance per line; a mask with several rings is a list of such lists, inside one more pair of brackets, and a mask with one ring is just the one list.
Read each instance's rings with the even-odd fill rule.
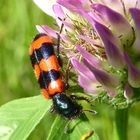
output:
[[115,140],[127,140],[128,108],[115,111]]

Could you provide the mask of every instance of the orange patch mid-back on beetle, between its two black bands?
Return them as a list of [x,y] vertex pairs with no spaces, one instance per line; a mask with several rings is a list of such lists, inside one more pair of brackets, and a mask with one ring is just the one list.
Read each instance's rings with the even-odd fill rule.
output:
[[59,65],[55,55],[51,55],[48,59],[41,59],[39,67],[42,71],[50,71],[52,69],[59,71]]

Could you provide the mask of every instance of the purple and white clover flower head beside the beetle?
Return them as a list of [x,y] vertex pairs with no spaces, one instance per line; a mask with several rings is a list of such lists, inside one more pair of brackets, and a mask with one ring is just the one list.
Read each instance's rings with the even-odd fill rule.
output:
[[[63,25],[61,49],[79,85],[90,95],[104,94],[112,104],[127,107],[133,91],[140,91],[140,0],[34,1]],[[60,31],[47,25],[37,29],[54,38]]]

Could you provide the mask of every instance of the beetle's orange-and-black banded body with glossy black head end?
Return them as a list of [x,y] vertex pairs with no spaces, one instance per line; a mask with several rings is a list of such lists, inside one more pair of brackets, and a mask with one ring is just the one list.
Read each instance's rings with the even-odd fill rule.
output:
[[41,92],[46,99],[53,100],[52,110],[68,119],[78,117],[82,113],[82,106],[74,96],[64,94],[65,84],[51,37],[44,33],[36,35],[29,54]]

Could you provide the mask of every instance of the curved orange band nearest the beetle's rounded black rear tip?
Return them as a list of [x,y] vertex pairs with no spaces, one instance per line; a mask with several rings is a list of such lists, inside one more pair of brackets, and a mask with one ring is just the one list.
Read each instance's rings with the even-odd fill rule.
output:
[[30,49],[29,49],[29,54],[32,55],[34,49],[39,49],[41,47],[42,43],[52,43],[53,44],[53,41],[52,41],[52,38],[47,35],[41,36],[40,38],[38,38],[37,40],[32,42]]

